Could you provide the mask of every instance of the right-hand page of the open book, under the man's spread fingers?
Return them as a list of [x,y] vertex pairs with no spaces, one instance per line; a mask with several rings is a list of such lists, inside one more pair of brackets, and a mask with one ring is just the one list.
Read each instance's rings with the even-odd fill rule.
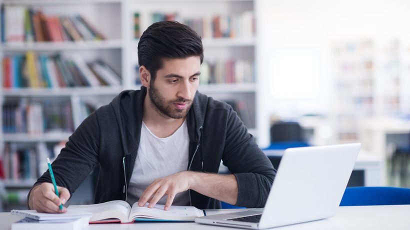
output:
[[162,220],[182,220],[182,221],[193,221],[197,216],[203,216],[203,211],[194,206],[177,206],[171,205],[168,210],[164,210],[164,205],[155,204],[152,208],[145,206],[140,207],[134,203],[129,213],[129,219],[133,220],[135,218],[152,218],[152,219],[162,219]]

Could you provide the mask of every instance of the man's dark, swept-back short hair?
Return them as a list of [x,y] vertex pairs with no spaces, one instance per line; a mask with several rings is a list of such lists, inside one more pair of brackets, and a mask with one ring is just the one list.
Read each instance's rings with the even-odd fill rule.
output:
[[189,26],[177,21],[160,21],[151,24],[138,42],[138,64],[145,66],[151,80],[163,66],[164,58],[199,56],[203,60],[200,36]]

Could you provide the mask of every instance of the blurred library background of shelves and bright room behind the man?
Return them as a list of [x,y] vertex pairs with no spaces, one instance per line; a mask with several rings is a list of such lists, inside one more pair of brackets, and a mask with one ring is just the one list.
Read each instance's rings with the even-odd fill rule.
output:
[[[161,20],[201,35],[198,90],[229,103],[275,167],[287,147],[361,142],[348,186],[410,187],[410,1],[0,5],[0,211],[24,209],[45,158],[93,110],[140,87],[138,39]],[[69,203],[92,203],[96,170]]]

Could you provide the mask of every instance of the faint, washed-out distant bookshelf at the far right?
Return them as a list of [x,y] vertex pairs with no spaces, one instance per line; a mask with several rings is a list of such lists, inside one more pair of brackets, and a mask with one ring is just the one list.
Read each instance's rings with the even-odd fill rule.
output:
[[336,137],[353,142],[370,117],[404,117],[410,107],[408,39],[355,39],[333,44]]

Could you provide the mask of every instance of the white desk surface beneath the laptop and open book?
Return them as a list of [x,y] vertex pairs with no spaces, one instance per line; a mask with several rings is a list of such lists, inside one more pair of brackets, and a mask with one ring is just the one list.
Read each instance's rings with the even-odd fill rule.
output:
[[[9,229],[13,221],[21,217],[13,216],[8,212],[0,212],[0,230]],[[384,205],[384,206],[343,206],[339,207],[333,217],[311,221],[307,223],[293,224],[284,227],[275,227],[275,230],[297,230],[297,229],[394,229],[408,230],[410,228],[410,205]],[[111,229],[233,229],[230,227],[218,227],[202,225],[194,222],[169,223],[169,222],[149,222],[149,223],[105,223],[90,224],[83,230],[111,230]]]

